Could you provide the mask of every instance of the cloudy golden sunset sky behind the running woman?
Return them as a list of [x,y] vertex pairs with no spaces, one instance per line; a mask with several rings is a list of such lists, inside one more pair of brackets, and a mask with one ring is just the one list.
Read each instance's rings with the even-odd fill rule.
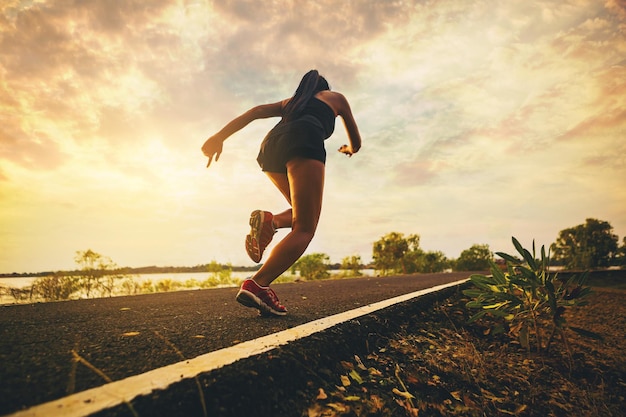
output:
[[287,208],[255,160],[278,120],[208,169],[200,147],[312,68],[363,148],[336,152],[338,118],[306,253],[368,262],[390,232],[512,253],[587,218],[626,235],[624,0],[4,0],[0,272],[74,269],[87,249],[253,265],[250,212]]

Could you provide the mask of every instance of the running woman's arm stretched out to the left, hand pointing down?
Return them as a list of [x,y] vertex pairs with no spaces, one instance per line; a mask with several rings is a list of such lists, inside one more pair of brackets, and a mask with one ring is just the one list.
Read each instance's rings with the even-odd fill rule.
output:
[[261,104],[259,106],[255,106],[240,116],[235,117],[233,120],[228,122],[226,126],[224,126],[219,132],[211,136],[204,142],[202,145],[202,153],[209,158],[209,162],[207,164],[207,168],[211,165],[211,161],[213,160],[213,156],[215,156],[215,161],[217,161],[222,153],[222,146],[226,139],[228,139],[232,134],[240,131],[244,127],[246,127],[250,122],[257,119],[267,119],[269,117],[281,117],[283,104],[285,100],[279,101],[271,104]]

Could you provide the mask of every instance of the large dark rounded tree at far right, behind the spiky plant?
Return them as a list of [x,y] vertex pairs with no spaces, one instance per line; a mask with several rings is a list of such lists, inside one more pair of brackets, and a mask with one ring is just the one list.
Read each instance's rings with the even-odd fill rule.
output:
[[607,267],[618,254],[618,237],[609,222],[587,219],[584,224],[559,232],[550,249],[568,269]]

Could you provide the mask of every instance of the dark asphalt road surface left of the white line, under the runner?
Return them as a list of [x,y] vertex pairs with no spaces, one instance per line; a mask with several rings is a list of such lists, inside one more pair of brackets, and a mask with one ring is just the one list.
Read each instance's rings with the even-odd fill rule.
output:
[[0,415],[469,275],[277,284],[281,318],[240,306],[237,288],[3,306]]

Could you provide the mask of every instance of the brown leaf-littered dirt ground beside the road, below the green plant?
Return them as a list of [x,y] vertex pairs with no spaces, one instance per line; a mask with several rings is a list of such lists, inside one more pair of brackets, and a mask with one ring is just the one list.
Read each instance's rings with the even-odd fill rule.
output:
[[[438,302],[366,356],[334,364],[310,384],[302,416],[624,416],[626,291],[598,289],[567,322],[602,340],[567,333],[547,355],[467,324],[460,293]],[[330,368],[329,364],[329,368]]]

